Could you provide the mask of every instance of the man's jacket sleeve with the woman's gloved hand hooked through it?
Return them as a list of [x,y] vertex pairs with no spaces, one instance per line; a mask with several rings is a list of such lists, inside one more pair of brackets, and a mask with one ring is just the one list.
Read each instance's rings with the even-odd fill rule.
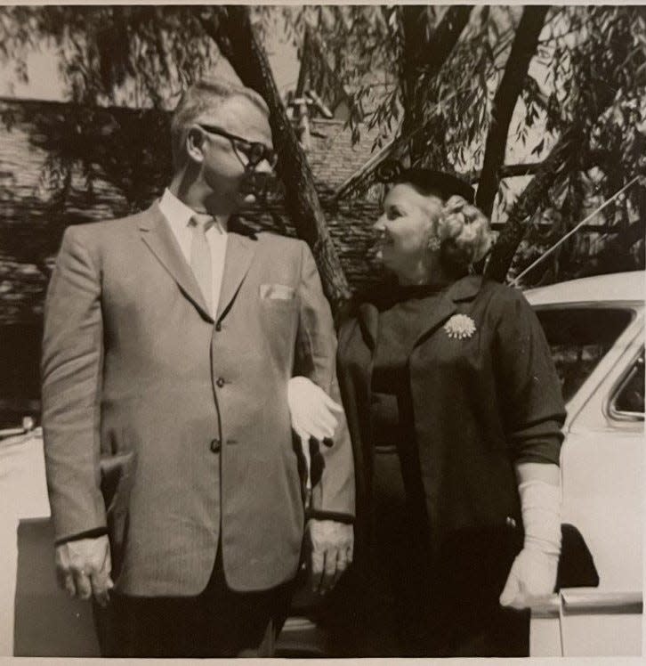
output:
[[[295,374],[311,379],[341,403],[336,378],[336,336],[327,298],[310,248],[303,242],[300,313],[295,350]],[[354,516],[354,463],[350,434],[343,415],[332,446],[320,446],[323,471],[312,488],[311,517],[350,522]]]

